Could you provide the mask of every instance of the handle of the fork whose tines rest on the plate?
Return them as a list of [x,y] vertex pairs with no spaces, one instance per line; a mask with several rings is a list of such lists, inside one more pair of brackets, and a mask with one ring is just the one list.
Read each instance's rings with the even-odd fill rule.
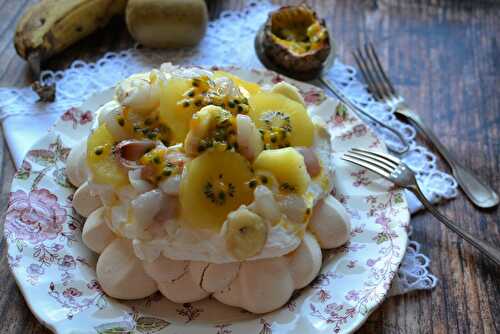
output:
[[491,246],[490,244],[476,238],[469,232],[463,230],[461,227],[457,226],[448,217],[439,212],[424,196],[420,188],[417,186],[408,188],[412,193],[417,196],[417,198],[422,202],[427,210],[429,210],[434,217],[441,221],[446,227],[458,234],[462,239],[468,241],[472,246],[476,247],[481,253],[490,258],[493,262],[500,265],[500,249]]

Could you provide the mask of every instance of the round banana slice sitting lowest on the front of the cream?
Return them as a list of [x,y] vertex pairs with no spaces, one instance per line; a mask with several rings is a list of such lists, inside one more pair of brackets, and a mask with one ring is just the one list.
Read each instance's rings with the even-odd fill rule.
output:
[[267,240],[267,225],[262,218],[245,207],[231,212],[225,223],[228,252],[237,260],[259,254]]

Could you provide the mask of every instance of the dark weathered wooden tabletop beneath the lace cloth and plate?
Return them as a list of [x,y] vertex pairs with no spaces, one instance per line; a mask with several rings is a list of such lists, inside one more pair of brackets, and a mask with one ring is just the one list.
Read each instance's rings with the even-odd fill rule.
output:
[[[15,24],[34,1],[0,0],[0,86],[32,80],[12,46]],[[211,15],[242,8],[245,1],[210,1]],[[281,3],[290,1],[277,1]],[[299,1],[291,1],[299,3]],[[385,0],[308,1],[332,28],[340,58],[368,40],[380,51],[396,87],[444,144],[483,180],[500,189],[500,3],[495,1]],[[73,60],[95,60],[133,45],[123,21],[115,20],[46,68],[64,69]],[[14,173],[0,145],[1,209]],[[500,244],[499,210],[477,210],[465,196],[441,209],[471,233]],[[3,224],[3,222],[2,222]],[[433,291],[389,298],[361,333],[499,333],[500,268],[440,225],[430,214],[412,220],[413,238],[432,259],[440,278]],[[0,247],[1,333],[48,333],[26,306]]]

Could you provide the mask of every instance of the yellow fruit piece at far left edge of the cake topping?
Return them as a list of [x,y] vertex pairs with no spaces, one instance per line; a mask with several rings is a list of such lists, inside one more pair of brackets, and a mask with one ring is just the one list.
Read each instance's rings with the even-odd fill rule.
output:
[[113,153],[114,138],[103,124],[97,128],[87,141],[87,165],[92,181],[121,187],[128,184],[128,175]]

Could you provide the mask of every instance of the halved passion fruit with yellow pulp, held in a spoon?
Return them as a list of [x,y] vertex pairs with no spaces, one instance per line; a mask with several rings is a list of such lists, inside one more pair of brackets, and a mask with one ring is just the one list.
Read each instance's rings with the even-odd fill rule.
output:
[[261,61],[299,79],[313,78],[332,46],[328,29],[309,6],[283,6],[269,13],[256,37]]

